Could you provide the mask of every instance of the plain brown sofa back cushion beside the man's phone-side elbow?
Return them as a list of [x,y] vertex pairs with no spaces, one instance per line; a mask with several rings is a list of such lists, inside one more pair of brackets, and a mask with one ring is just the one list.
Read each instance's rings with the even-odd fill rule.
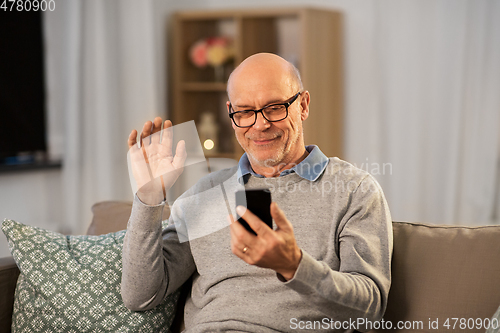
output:
[[[437,319],[439,329],[431,331],[450,332],[459,329],[452,329],[452,318],[493,316],[500,304],[500,226],[394,222],[393,230],[392,286],[385,320],[393,325],[422,321],[423,331],[428,331],[429,321]],[[448,318],[449,328],[443,326]]]

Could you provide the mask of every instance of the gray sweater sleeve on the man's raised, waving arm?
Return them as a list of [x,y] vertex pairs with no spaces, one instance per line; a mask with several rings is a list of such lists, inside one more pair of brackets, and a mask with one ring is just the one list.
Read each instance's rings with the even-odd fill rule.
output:
[[121,283],[123,302],[133,311],[160,304],[195,271],[189,242],[179,242],[173,224],[162,230],[164,206],[148,206],[134,198],[123,242]]

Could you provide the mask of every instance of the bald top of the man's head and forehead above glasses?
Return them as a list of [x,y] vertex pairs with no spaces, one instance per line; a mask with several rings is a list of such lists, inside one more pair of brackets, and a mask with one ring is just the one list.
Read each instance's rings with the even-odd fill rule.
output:
[[299,71],[292,63],[276,54],[257,53],[243,60],[231,73],[227,94],[232,99],[235,89],[252,93],[268,85],[286,86],[293,93],[304,90]]

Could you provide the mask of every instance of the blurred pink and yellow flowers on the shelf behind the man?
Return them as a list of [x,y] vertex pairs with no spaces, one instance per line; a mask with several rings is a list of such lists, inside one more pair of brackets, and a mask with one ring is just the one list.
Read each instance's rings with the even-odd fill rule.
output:
[[200,39],[191,46],[189,57],[196,67],[218,68],[234,57],[232,40],[223,36]]

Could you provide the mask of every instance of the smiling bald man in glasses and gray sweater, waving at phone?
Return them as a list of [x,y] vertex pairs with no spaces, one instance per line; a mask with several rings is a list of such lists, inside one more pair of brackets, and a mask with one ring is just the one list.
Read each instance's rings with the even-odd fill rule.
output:
[[[352,331],[363,328],[353,326],[358,318],[380,320],[390,287],[392,226],[377,182],[304,146],[310,94],[284,59],[267,53],[247,58],[229,78],[228,97],[245,154],[237,168],[209,175],[177,200],[172,226],[163,232],[161,186],[138,191],[123,249],[125,304],[151,308],[193,275],[188,332]],[[156,118],[142,136],[160,127]],[[133,131],[129,147],[136,136]],[[184,158],[182,144],[168,157],[173,169]],[[192,213],[203,205],[196,194],[220,184],[226,190],[235,184],[269,188],[275,229],[238,207],[256,235],[230,217],[229,227],[190,237],[192,220],[209,215],[206,223],[217,224],[226,218],[209,209]]]

